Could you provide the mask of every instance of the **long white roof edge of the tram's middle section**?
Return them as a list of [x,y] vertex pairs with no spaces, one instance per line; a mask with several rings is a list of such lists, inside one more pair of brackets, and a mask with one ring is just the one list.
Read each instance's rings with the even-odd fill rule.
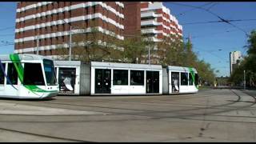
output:
[[147,65],[147,64],[134,64],[134,63],[116,63],[116,62],[91,62],[90,64],[91,64],[91,66],[98,66],[98,67],[162,70],[162,66],[161,65]]

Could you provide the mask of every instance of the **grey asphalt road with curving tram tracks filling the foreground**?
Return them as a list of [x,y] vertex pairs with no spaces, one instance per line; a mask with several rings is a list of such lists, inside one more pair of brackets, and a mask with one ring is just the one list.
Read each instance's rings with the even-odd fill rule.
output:
[[255,142],[254,92],[0,99],[0,142]]

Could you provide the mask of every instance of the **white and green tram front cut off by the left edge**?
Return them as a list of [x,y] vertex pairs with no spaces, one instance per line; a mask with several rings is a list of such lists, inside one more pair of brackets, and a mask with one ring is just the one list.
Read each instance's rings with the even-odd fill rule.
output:
[[49,98],[58,95],[54,62],[36,54],[0,55],[1,98]]

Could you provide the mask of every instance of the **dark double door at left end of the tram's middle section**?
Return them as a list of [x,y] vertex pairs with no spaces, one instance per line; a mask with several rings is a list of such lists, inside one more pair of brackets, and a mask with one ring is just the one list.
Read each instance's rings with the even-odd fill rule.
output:
[[95,69],[95,94],[111,93],[111,70]]

